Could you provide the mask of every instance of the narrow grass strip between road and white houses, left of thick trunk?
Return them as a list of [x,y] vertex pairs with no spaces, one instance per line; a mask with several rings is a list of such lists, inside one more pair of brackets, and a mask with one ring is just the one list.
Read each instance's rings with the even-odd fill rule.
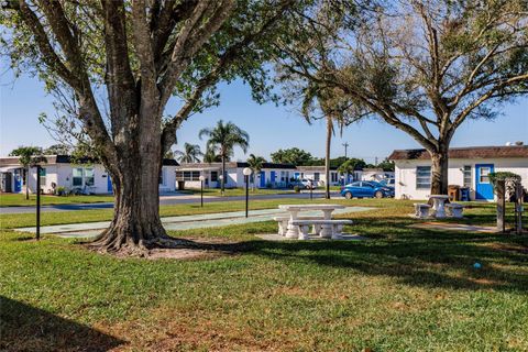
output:
[[[41,196],[42,205],[68,205],[68,204],[89,204],[89,202],[105,202],[113,201],[113,196],[94,195],[94,196]],[[1,194],[0,207],[22,207],[36,205],[36,195],[30,195],[30,199],[25,199],[23,194]]]

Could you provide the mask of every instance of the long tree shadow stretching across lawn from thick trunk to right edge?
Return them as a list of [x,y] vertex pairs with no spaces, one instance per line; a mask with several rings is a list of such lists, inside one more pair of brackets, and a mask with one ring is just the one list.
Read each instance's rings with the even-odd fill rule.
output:
[[[398,283],[422,287],[528,290],[528,235],[417,230],[408,228],[414,221],[404,218],[354,221],[359,234],[371,240],[254,240],[197,246],[254,254],[292,265],[316,263],[372,276],[392,276]],[[482,267],[475,268],[474,263]]]

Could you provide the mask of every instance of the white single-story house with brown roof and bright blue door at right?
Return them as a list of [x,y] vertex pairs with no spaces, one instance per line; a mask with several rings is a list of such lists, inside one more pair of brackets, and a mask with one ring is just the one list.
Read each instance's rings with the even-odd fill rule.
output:
[[[396,198],[427,199],[431,186],[431,158],[426,150],[397,150]],[[449,150],[449,185],[470,188],[472,200],[493,200],[490,173],[512,172],[528,188],[528,145],[453,147]]]

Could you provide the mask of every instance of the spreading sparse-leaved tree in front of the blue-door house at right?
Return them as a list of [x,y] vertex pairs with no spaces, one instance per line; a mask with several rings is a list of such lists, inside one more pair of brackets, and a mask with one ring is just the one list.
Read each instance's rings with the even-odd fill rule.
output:
[[[528,92],[528,3],[399,0],[361,13],[356,1],[322,3],[290,22],[298,34],[280,42],[280,61],[414,138],[431,156],[431,194],[447,194],[459,127]],[[319,21],[329,16],[339,25]]]

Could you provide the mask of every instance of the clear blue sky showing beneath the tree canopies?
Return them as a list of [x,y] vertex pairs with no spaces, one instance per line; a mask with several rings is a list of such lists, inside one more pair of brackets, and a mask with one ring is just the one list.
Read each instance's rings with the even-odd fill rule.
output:
[[[7,155],[19,145],[48,146],[56,143],[38,123],[41,112],[53,113],[52,97],[44,92],[36,78],[21,77],[13,80],[11,72],[0,76],[0,155]],[[324,124],[308,125],[293,108],[257,105],[250,90],[240,81],[221,85],[221,105],[191,117],[178,132],[178,142],[200,144],[198,131],[212,127],[219,119],[233,121],[250,134],[250,153],[270,157],[270,153],[292,146],[324,155]],[[172,106],[166,113],[173,114]],[[503,145],[508,141],[528,143],[528,98],[504,108],[504,116],[495,121],[466,121],[457,132],[452,146]],[[332,157],[343,155],[342,143],[348,142],[349,156],[374,163],[386,157],[395,148],[420,147],[410,136],[377,120],[350,125],[343,135],[336,135]],[[175,148],[178,148],[176,145]],[[240,150],[235,160],[245,160]]]

